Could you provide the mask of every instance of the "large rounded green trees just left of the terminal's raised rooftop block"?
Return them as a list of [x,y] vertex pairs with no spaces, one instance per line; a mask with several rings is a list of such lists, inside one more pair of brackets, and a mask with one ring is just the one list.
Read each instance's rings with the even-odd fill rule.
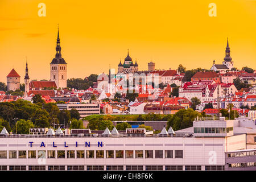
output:
[[194,119],[199,115],[193,109],[181,109],[168,119],[167,128],[172,127],[174,131],[193,126]]

